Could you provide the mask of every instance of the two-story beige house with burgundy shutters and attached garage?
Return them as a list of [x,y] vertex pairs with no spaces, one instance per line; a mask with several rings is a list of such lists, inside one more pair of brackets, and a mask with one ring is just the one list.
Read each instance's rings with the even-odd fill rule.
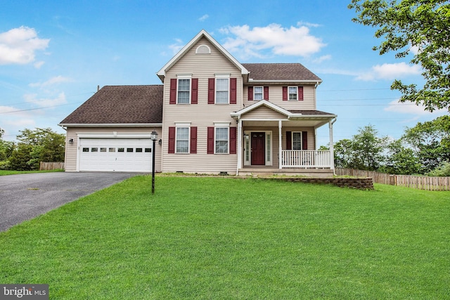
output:
[[[66,171],[332,176],[316,129],[321,79],[299,63],[239,63],[202,30],[157,73],[162,85],[104,86],[60,126]],[[155,149],[150,132],[157,131]]]

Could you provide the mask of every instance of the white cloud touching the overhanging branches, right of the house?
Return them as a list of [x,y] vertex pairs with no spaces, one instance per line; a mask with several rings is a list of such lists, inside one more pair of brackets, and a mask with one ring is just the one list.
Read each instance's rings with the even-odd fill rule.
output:
[[357,80],[371,81],[376,79],[398,79],[409,75],[420,74],[420,66],[407,63],[384,63],[375,65],[368,72],[359,74]]

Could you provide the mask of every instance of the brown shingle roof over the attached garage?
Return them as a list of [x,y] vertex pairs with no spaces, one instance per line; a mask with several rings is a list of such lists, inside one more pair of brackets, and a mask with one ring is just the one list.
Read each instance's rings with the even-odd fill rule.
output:
[[60,124],[162,123],[162,85],[103,86]]

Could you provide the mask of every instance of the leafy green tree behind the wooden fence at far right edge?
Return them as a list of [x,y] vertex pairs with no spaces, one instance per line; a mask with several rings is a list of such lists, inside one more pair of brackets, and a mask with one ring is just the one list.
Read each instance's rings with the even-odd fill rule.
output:
[[450,162],[449,115],[428,122],[418,122],[416,126],[406,129],[402,139],[418,157],[422,174],[438,168],[444,162]]

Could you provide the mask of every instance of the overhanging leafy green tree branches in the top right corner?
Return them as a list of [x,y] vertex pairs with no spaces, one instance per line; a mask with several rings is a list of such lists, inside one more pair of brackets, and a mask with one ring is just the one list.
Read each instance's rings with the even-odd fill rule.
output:
[[442,0],[352,0],[357,13],[354,22],[378,27],[375,37],[383,38],[380,55],[396,51],[396,58],[413,53],[411,63],[423,68],[425,84],[392,83],[401,91],[400,101],[424,105],[425,110],[446,108],[450,112],[450,4]]

